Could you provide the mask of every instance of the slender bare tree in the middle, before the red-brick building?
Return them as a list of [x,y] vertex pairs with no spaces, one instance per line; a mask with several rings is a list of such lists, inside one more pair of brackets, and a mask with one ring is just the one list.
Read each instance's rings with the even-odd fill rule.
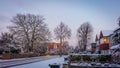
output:
[[56,39],[60,41],[60,55],[62,52],[62,45],[65,39],[69,39],[71,37],[71,29],[68,28],[67,25],[65,25],[63,22],[61,22],[55,29],[54,33],[56,36]]

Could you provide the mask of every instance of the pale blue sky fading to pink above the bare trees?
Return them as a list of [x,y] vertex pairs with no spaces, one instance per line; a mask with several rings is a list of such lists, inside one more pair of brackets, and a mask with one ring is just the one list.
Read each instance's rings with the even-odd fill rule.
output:
[[93,40],[100,30],[114,30],[119,6],[120,0],[0,0],[0,32],[8,31],[17,13],[31,13],[45,18],[53,37],[54,28],[64,22],[72,30],[71,45],[77,45],[76,30],[84,22],[93,26]]

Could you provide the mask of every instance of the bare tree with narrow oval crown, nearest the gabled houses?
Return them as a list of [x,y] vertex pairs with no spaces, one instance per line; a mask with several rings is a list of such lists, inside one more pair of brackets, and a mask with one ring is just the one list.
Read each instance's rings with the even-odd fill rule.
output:
[[89,39],[93,32],[92,25],[89,22],[83,23],[77,30],[78,44],[82,51],[86,50]]

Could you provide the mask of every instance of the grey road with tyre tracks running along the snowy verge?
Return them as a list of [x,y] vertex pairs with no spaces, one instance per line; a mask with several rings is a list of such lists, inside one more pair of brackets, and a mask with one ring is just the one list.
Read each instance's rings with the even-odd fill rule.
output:
[[52,58],[57,58],[57,57],[59,56],[40,56],[40,57],[31,57],[31,58],[3,60],[3,61],[0,61],[0,68],[24,65],[24,64],[39,62],[39,61],[48,60]]

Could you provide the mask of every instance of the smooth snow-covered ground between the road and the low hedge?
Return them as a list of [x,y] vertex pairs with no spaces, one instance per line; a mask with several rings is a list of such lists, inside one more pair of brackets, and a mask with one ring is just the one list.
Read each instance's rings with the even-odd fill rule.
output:
[[10,68],[50,68],[49,64],[54,64],[54,63],[61,64],[61,68],[62,68],[62,63],[64,63],[64,57],[65,56],[55,58],[55,59],[40,61],[40,62],[36,62],[36,63],[14,66],[14,67],[10,67]]

